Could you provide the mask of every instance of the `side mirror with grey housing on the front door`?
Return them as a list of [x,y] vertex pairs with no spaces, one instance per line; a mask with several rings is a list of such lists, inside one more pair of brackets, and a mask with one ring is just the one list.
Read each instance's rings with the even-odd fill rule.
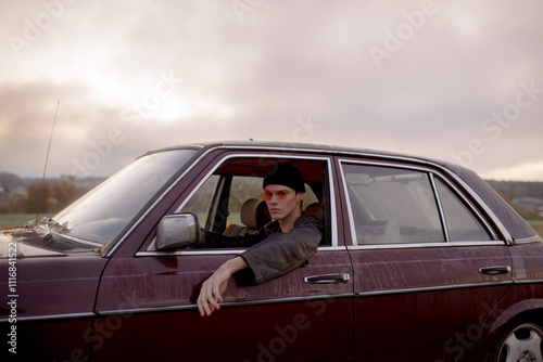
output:
[[200,227],[194,214],[176,214],[162,218],[156,232],[156,248],[173,249],[200,241]]

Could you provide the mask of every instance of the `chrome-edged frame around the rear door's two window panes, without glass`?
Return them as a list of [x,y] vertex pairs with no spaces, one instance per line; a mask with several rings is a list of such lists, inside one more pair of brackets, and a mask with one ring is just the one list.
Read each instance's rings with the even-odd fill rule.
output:
[[[443,246],[466,246],[466,245],[504,245],[504,242],[501,241],[493,228],[489,224],[487,219],[482,216],[482,214],[478,210],[478,208],[473,205],[473,203],[465,196],[463,192],[458,190],[458,188],[451,182],[442,172],[437,171],[431,167],[420,166],[420,165],[405,165],[397,163],[388,163],[388,161],[379,161],[379,160],[361,160],[361,159],[352,159],[352,158],[339,158],[339,177],[341,178],[341,184],[343,189],[343,195],[345,198],[346,205],[346,215],[349,222],[349,234],[351,236],[351,244],[348,245],[348,248],[363,248],[363,249],[377,249],[377,248],[412,248],[412,247],[443,247]],[[431,242],[431,243],[388,243],[388,244],[358,244],[356,232],[355,232],[355,222],[353,216],[353,207],[351,204],[351,195],[349,193],[346,178],[344,172],[344,165],[361,165],[361,166],[374,166],[374,167],[387,167],[387,168],[396,168],[396,169],[405,169],[409,171],[418,171],[424,172],[428,176],[428,180],[430,182],[431,190],[433,192],[433,196],[437,203],[437,209],[439,212],[439,219],[441,222],[442,232],[444,235],[444,242]],[[441,197],[439,195],[438,186],[435,184],[435,178],[438,178],[441,182],[447,185],[453,194],[469,209],[469,211],[475,216],[477,221],[483,227],[483,229],[489,233],[490,241],[466,241],[466,242],[451,242],[449,230],[446,225],[446,219],[443,211],[443,205]]]

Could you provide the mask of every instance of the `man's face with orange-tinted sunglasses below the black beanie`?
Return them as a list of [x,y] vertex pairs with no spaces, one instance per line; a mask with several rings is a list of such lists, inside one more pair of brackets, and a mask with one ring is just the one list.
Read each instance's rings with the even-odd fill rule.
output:
[[293,189],[280,184],[268,184],[264,192],[268,195],[266,205],[274,220],[287,219],[300,211],[300,204],[304,197],[303,193],[296,193]]

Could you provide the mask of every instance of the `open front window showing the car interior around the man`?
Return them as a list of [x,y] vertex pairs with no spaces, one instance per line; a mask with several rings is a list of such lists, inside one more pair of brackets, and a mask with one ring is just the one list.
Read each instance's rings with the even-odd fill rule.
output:
[[277,163],[288,163],[300,169],[305,181],[302,209],[323,219],[327,214],[325,207],[329,197],[325,181],[326,163],[306,159],[267,160],[263,157],[225,160],[201,183],[179,212],[197,215],[200,228],[206,231],[229,236],[256,232],[272,221],[269,215],[266,216],[262,183]]

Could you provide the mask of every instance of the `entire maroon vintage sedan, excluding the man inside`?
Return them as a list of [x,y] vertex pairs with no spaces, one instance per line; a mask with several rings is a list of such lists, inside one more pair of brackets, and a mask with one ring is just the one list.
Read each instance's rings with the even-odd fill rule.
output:
[[[232,279],[220,310],[202,318],[200,286],[243,249],[194,247],[199,230],[242,234],[268,221],[258,197],[278,163],[302,171],[321,245],[270,282]],[[310,144],[179,145],[140,156],[36,229],[0,237],[0,322],[17,357],[497,361],[503,350],[502,360],[508,351],[541,361],[541,237],[475,172],[438,160]]]

